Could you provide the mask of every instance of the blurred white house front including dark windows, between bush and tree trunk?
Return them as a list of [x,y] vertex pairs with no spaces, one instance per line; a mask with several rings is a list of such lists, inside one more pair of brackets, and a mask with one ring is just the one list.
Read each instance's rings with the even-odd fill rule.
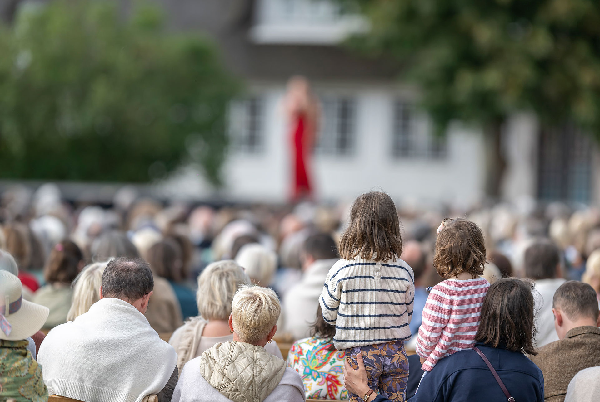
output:
[[[481,136],[452,129],[434,137],[413,96],[390,83],[314,82],[322,120],[314,155],[316,195],[351,199],[381,188],[403,202],[472,202],[482,195]],[[292,181],[284,83],[254,84],[230,113],[227,194],[286,200]]]

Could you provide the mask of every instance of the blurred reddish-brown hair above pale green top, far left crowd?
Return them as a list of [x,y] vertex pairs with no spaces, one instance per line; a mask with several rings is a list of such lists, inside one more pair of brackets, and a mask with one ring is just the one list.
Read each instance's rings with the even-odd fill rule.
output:
[[70,284],[82,267],[83,253],[73,241],[57,243],[50,252],[44,267],[44,279],[48,283]]

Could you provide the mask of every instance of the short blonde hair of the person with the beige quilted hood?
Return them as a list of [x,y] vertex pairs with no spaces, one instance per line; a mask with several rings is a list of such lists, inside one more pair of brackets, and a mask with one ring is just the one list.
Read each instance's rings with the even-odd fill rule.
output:
[[253,343],[266,338],[277,324],[281,306],[275,292],[260,286],[244,286],[232,301],[233,331],[242,341]]

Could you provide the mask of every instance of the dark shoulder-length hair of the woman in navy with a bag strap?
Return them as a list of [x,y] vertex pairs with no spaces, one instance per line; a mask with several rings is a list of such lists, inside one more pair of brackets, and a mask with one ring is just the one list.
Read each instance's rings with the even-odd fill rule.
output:
[[537,355],[533,346],[533,282],[505,278],[494,282],[485,295],[481,324],[475,340],[513,352]]

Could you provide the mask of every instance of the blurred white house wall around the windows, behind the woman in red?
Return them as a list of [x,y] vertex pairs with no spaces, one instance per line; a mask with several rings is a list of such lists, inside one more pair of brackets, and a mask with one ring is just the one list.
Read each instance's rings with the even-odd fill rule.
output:
[[[481,132],[459,124],[447,134],[442,158],[392,155],[394,101],[410,101],[409,90],[372,85],[315,85],[325,95],[355,99],[355,144],[350,155],[317,155],[313,159],[316,201],[351,201],[367,191],[382,189],[399,205],[422,206],[445,203],[468,207],[484,197],[484,141]],[[170,198],[232,202],[286,202],[292,186],[290,127],[284,113],[283,84],[252,87],[250,93],[264,102],[262,147],[248,153],[231,149],[223,167],[224,188],[211,188],[202,174],[187,167],[158,186],[157,194]],[[425,134],[427,119],[419,119],[416,131]],[[502,185],[506,201],[536,196],[538,128],[536,119],[520,114],[506,126],[504,144],[508,162]],[[600,186],[599,186],[600,187]]]

